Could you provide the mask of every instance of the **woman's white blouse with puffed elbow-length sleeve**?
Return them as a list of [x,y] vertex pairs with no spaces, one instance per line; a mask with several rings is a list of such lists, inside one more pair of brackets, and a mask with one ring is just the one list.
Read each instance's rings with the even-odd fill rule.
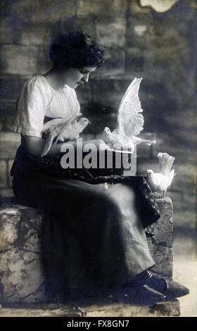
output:
[[62,91],[53,89],[42,75],[25,82],[17,103],[14,132],[42,137],[44,117],[70,118],[80,113],[75,89],[65,85]]

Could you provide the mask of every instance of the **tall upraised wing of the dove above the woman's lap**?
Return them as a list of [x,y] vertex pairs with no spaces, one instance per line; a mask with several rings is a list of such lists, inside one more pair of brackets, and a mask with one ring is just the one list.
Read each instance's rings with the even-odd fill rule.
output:
[[[131,82],[125,95],[120,101],[120,106],[117,111],[117,132],[127,136],[132,135],[132,115],[141,113],[141,103],[138,92],[142,78],[134,78]],[[142,115],[141,115],[142,116]]]

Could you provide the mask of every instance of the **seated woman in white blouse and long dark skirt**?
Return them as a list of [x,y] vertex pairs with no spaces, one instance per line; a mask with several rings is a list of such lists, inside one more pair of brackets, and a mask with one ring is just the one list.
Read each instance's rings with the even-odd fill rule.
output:
[[[44,210],[42,253],[49,298],[127,293],[131,300],[136,290],[139,300],[160,301],[188,293],[150,271],[155,262],[144,227],[159,215],[154,201],[144,197],[144,191],[151,196],[145,179],[120,179],[106,187],[102,180],[86,177],[84,169],[65,170],[61,147],[66,142],[53,142],[41,157],[44,123],[80,113],[75,89],[101,66],[104,48],[84,32],[70,32],[53,41],[49,58],[51,70],[27,80],[20,93],[13,131],[20,133],[21,145],[11,169],[18,201]],[[100,143],[94,140],[96,146]],[[76,146],[75,141],[69,144]]]

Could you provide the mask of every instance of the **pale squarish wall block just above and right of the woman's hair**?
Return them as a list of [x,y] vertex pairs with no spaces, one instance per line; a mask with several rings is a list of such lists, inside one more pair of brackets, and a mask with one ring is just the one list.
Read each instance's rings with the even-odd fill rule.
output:
[[108,47],[117,47],[117,45],[124,47],[125,30],[126,20],[124,18],[101,17],[96,20],[96,40]]

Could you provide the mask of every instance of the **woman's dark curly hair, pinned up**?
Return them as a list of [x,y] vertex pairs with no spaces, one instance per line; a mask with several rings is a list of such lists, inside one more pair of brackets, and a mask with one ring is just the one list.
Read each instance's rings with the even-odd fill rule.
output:
[[100,67],[105,47],[82,31],[59,35],[49,48],[49,58],[61,68]]

